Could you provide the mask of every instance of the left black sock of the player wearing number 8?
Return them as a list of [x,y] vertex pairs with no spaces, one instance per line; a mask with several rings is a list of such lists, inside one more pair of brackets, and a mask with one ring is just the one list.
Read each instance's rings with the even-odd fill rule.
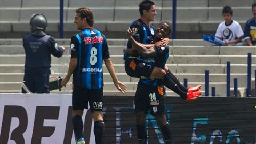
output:
[[74,128],[74,133],[76,138],[78,139],[79,137],[83,137],[83,120],[82,117],[79,115],[74,115],[72,117],[72,124],[73,124],[73,128]]

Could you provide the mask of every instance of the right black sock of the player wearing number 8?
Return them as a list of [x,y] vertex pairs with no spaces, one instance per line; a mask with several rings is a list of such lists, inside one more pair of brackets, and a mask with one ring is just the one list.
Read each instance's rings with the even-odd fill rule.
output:
[[104,131],[105,124],[103,121],[95,121],[94,122],[94,135],[96,144],[102,143],[103,138],[103,131]]

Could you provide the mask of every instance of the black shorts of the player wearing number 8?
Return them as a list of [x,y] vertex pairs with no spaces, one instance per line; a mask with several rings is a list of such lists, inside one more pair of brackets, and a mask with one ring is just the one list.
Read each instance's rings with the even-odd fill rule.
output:
[[101,89],[86,89],[74,85],[72,92],[72,109],[84,110],[88,109],[88,102],[91,112],[102,111],[103,107],[103,88]]

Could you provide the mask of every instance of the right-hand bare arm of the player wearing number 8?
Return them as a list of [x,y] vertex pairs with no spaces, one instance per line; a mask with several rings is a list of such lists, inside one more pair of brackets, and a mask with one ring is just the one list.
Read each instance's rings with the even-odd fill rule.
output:
[[113,63],[111,62],[111,59],[104,59],[105,65],[108,69],[109,74],[112,77],[112,80],[116,86],[116,88],[121,92],[121,93],[126,93],[127,92],[127,86],[120,82],[116,76],[115,68],[113,66]]

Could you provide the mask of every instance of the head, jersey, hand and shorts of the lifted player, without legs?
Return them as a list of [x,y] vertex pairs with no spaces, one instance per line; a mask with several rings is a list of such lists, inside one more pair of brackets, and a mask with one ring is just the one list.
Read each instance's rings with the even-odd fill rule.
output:
[[[134,39],[141,44],[151,44],[151,41],[155,35],[155,28],[149,24],[154,21],[156,17],[156,6],[152,1],[143,0],[139,4],[139,12],[141,18],[132,22],[130,29],[133,31]],[[169,43],[169,38],[162,39],[159,44],[162,46]],[[147,46],[147,45],[145,45]],[[131,49],[131,42],[128,41],[127,49]],[[143,65],[139,65],[139,54],[128,54],[124,52],[125,71],[131,77],[141,78],[141,71],[143,71]]]

